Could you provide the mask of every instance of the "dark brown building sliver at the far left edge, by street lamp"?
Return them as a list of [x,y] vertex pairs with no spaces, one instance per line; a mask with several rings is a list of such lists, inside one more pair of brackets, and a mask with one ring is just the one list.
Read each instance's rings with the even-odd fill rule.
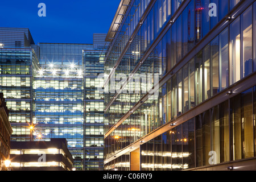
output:
[[0,93],[0,171],[6,171],[6,162],[10,161],[11,125],[9,122],[9,110],[6,106],[3,93]]

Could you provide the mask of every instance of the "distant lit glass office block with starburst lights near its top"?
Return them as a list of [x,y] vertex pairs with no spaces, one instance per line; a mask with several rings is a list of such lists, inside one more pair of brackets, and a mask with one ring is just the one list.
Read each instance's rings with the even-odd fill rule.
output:
[[97,76],[104,73],[105,37],[94,34],[95,44],[35,45],[28,28],[0,28],[0,90],[10,108],[11,140],[65,138],[76,169],[103,169]]

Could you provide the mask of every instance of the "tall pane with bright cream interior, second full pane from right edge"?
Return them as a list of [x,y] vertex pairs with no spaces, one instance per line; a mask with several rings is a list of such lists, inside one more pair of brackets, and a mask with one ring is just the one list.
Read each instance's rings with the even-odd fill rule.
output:
[[240,80],[240,17],[230,24],[230,82]]

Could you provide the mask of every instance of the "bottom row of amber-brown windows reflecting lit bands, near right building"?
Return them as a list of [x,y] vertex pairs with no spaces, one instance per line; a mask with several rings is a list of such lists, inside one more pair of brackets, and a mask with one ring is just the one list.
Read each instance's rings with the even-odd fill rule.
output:
[[[255,114],[256,86],[142,144],[141,169],[176,171],[254,158]],[[106,168],[123,165],[115,159]]]

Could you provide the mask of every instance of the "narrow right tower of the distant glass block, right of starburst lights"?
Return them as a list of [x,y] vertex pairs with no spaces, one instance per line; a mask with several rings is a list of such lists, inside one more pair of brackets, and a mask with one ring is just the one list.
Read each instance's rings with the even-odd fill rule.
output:
[[[106,37],[106,35],[105,35]],[[103,39],[105,40],[105,39]],[[102,49],[103,50],[103,49]],[[102,50],[84,50],[84,169],[103,170],[104,160],[104,93]]]

